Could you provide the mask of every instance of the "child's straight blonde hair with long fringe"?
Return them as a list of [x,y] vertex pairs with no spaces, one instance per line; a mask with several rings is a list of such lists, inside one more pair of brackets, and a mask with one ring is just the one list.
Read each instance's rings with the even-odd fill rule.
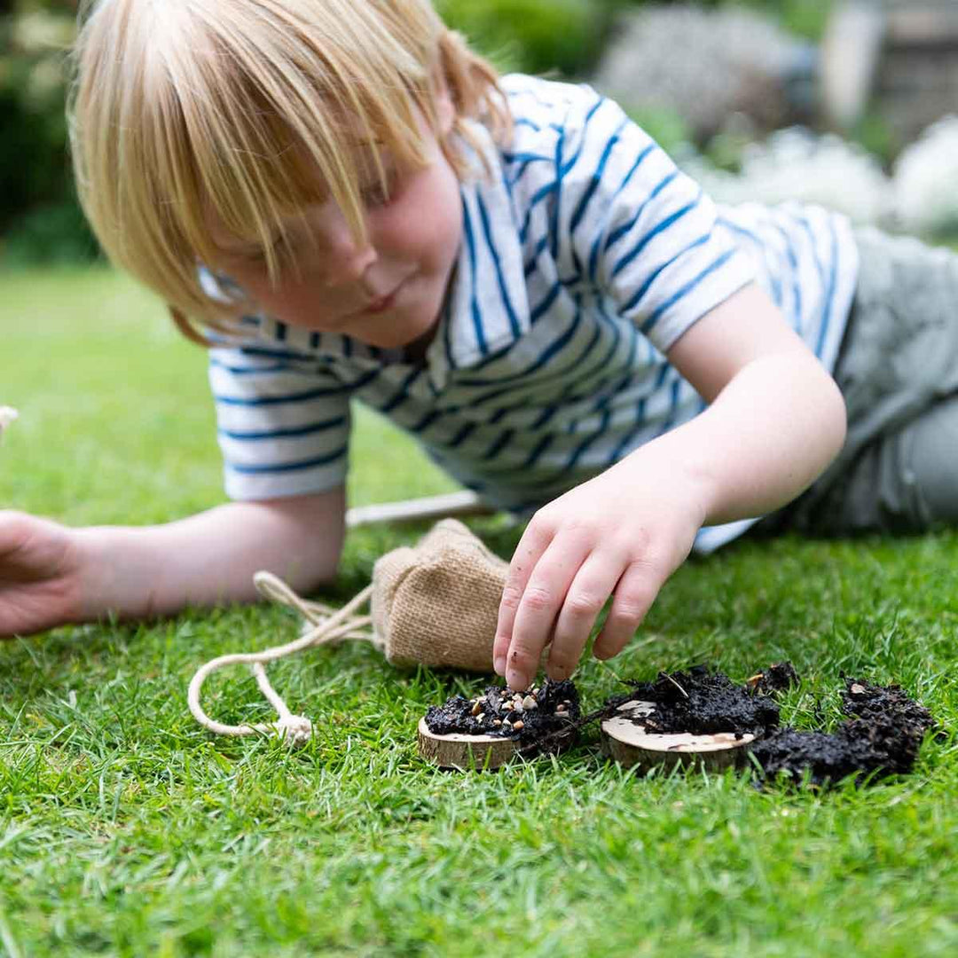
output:
[[211,213],[262,244],[275,282],[284,217],[326,195],[364,237],[357,143],[380,181],[380,148],[421,166],[418,114],[438,132],[444,84],[455,120],[440,146],[460,178],[468,121],[497,139],[511,126],[495,71],[429,0],[85,0],[80,17],[68,106],[80,202],[110,260],[198,342],[237,312],[200,285],[217,254]]

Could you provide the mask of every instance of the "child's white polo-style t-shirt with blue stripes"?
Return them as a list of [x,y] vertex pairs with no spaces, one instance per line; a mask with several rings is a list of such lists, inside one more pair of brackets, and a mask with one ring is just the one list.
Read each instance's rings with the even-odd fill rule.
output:
[[493,173],[461,186],[462,247],[424,359],[264,315],[211,351],[229,496],[341,485],[361,399],[463,485],[527,513],[704,408],[665,354],[752,280],[831,371],[857,269],[844,219],[718,207],[588,87],[504,88],[513,141],[476,127]]

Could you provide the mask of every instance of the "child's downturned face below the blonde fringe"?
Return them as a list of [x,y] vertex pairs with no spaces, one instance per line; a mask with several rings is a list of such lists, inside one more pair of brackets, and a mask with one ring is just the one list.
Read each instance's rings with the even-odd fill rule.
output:
[[[452,106],[440,105],[441,132],[452,124]],[[459,181],[436,136],[422,123],[428,165],[400,168],[382,150],[390,190],[375,175],[366,200],[367,242],[356,244],[331,201],[288,220],[291,249],[278,248],[276,285],[266,272],[262,246],[231,237],[211,223],[223,251],[213,264],[246,292],[256,308],[291,326],[341,332],[370,346],[396,348],[435,329],[462,237]],[[370,165],[372,171],[372,165]]]

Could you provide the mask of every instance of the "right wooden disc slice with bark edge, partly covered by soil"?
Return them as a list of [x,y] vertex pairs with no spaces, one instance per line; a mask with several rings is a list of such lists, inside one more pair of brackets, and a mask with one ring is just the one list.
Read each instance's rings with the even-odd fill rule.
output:
[[602,723],[603,751],[616,762],[632,765],[703,764],[707,768],[723,768],[736,764],[745,754],[744,746],[755,741],[754,735],[737,739],[732,732],[693,735],[688,732],[661,735],[647,732],[641,719],[655,710],[654,702],[633,699],[619,706],[622,717]]

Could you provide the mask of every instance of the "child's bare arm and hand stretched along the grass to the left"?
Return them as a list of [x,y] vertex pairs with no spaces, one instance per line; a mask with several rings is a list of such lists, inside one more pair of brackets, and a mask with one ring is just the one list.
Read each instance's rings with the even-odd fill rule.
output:
[[0,636],[249,602],[259,569],[308,590],[335,574],[344,515],[342,489],[145,527],[69,529],[0,512]]

